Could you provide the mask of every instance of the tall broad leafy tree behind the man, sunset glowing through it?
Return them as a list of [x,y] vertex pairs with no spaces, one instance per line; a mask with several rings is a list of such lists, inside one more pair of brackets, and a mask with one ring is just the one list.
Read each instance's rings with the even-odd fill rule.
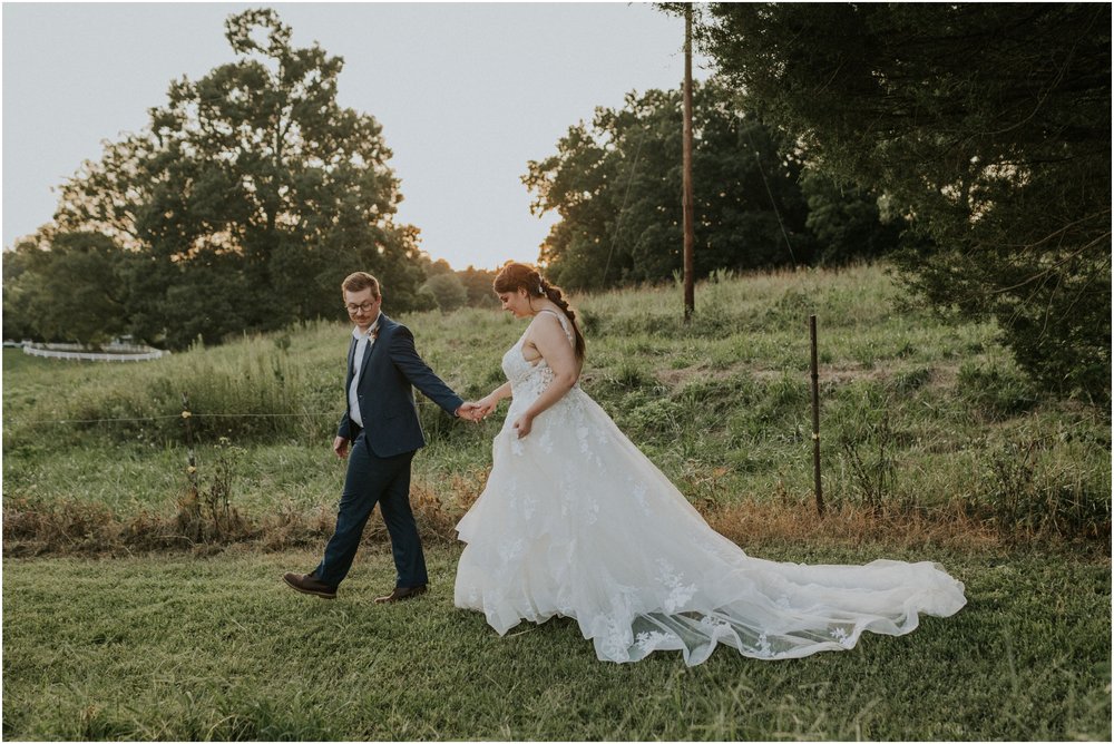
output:
[[170,85],[150,126],[106,146],[62,187],[59,236],[95,233],[128,262],[128,317],[182,346],[335,316],[341,280],[375,273],[408,309],[423,275],[380,125],[336,102],[343,60],[295,48],[270,9],[232,16],[237,56]]

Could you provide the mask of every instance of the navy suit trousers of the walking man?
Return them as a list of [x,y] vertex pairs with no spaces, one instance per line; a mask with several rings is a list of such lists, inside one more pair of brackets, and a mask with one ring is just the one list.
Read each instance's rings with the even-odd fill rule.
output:
[[336,513],[336,530],[325,556],[313,570],[319,581],[338,586],[355,558],[363,528],[375,505],[383,515],[394,554],[397,587],[416,587],[429,581],[426,556],[422,554],[418,523],[410,509],[410,461],[413,452],[389,458],[375,457],[360,432],[349,452],[344,492]]

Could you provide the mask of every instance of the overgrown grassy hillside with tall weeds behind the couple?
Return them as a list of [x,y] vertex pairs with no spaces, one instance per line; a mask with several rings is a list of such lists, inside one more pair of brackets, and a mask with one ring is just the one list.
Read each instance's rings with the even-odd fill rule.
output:
[[[1104,412],[1037,395],[993,325],[902,309],[879,266],[717,276],[696,298],[690,326],[675,286],[574,298],[588,340],[582,385],[722,531],[819,529],[815,313],[824,492],[843,520],[830,518],[836,538],[908,533],[912,522],[940,535],[1108,536]],[[502,382],[500,358],[525,327],[482,310],[399,320],[465,398]],[[201,496],[236,516],[222,538],[310,539],[303,530],[325,529],[342,479],[329,442],[346,333],[319,322],[127,366],[4,350],[6,548],[51,549],[81,529],[100,535],[86,540],[95,547],[152,526],[173,544],[190,483],[183,393]],[[451,539],[482,488],[501,417],[468,424],[420,405],[430,446],[414,461],[414,498],[426,529]],[[70,523],[77,512],[99,527]],[[193,526],[198,537],[203,528]]]

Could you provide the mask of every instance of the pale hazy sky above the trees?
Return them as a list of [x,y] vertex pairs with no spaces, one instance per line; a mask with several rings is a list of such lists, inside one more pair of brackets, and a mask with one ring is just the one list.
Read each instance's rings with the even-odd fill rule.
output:
[[[530,214],[527,161],[597,106],[684,76],[684,21],[648,3],[4,2],[4,248],[104,141],[147,126],[172,80],[234,61],[224,21],[262,6],[294,46],[344,59],[338,100],[382,125],[398,219],[458,270],[537,261],[556,217]],[[697,79],[710,67],[694,57]]]

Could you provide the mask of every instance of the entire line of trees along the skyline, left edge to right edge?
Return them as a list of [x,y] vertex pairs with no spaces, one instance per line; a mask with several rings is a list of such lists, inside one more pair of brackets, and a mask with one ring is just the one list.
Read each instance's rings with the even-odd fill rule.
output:
[[[676,3],[663,7],[675,12]],[[1098,3],[712,3],[697,41],[696,272],[889,255],[910,296],[995,319],[1045,389],[1110,400],[1111,9]],[[490,303],[395,219],[379,124],[343,65],[273,10],[229,17],[236,61],[173,82],[52,223],[4,253],[6,337],[89,343],[339,317],[353,266],[392,311]],[[681,268],[681,92],[632,92],[526,164],[566,288]]]

